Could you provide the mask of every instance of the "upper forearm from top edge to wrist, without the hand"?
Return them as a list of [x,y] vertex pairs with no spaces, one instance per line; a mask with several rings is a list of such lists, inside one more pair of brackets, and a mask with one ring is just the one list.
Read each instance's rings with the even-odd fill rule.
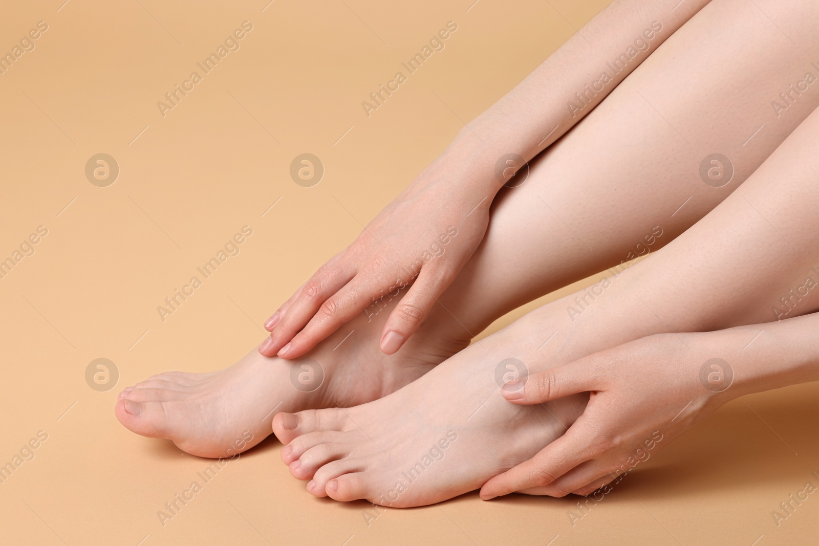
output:
[[446,164],[463,165],[468,176],[462,179],[494,196],[505,182],[495,173],[501,156],[531,160],[708,2],[685,0],[674,7],[667,0],[615,0],[461,129],[443,156]]

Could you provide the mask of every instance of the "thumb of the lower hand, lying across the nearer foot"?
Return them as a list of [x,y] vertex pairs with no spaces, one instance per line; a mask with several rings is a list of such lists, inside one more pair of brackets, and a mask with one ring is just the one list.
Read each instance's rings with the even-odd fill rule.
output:
[[591,372],[591,362],[586,357],[509,381],[500,394],[514,404],[540,404],[586,390],[599,390],[600,375]]

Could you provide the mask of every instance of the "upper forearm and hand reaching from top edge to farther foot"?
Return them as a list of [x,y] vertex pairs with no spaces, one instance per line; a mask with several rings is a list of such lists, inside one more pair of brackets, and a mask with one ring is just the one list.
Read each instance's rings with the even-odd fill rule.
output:
[[[260,353],[301,356],[382,294],[409,287],[382,328],[382,351],[396,353],[477,249],[490,205],[509,177],[572,129],[707,3],[615,0],[606,7],[462,129],[351,246],[319,268],[265,323],[270,337]],[[606,68],[624,51],[629,54],[621,70]],[[603,81],[601,70],[609,72]],[[459,234],[446,258],[428,259],[430,244],[453,227]]]

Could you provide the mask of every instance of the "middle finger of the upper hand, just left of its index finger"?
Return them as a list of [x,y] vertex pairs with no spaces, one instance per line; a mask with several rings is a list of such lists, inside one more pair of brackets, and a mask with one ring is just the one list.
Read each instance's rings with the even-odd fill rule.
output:
[[268,344],[266,351],[261,351],[262,354],[266,356],[277,354],[352,278],[355,278],[355,269],[350,264],[338,263],[327,269],[319,269],[305,282],[301,294],[287,309],[287,314],[279,319],[273,332],[270,332],[272,342]]

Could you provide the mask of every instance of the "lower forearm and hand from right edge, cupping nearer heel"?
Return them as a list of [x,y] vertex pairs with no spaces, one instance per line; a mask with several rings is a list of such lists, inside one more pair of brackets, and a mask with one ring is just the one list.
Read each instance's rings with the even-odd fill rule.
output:
[[732,399],[819,381],[817,332],[813,313],[716,332],[658,334],[518,380],[523,388],[501,390],[514,404],[590,392],[589,404],[558,440],[486,482],[481,499],[600,490]]

